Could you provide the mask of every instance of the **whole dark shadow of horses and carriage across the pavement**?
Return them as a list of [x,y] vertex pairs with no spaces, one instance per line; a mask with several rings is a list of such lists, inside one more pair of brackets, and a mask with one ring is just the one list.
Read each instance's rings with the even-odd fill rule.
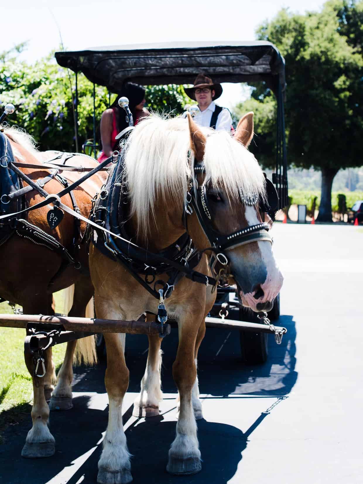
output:
[[[279,325],[287,327],[282,344],[277,346],[269,336],[269,358],[263,365],[243,366],[239,334],[228,330],[207,329],[198,358],[199,389],[206,399],[276,397],[276,403],[288,397],[293,388],[295,372],[295,323],[291,316],[280,317]],[[172,378],[172,363],[178,345],[177,330],[163,342],[162,382],[164,393],[176,393]],[[129,392],[140,389],[147,358],[147,338],[127,336],[126,363],[130,370]],[[102,450],[102,436],[106,430],[108,408],[105,396],[105,363],[97,368],[79,368],[75,371],[74,391],[92,392],[92,398],[80,395],[74,398],[74,408],[51,413],[50,430],[56,439],[56,454],[47,459],[28,460],[20,457],[30,422],[19,428],[17,438],[7,431],[6,445],[0,447],[0,481],[7,484],[94,484],[97,480],[97,462]],[[92,404],[99,394],[102,405]],[[101,401],[101,400],[100,400]],[[168,402],[171,403],[171,402]],[[174,405],[174,404],[172,404]],[[266,407],[268,404],[266,405]],[[273,407],[273,405],[272,405]],[[152,419],[132,417],[132,405],[124,408],[123,422],[132,458],[135,483],[150,484],[227,484],[235,475],[248,438],[269,415],[267,409],[243,431],[235,425],[199,420],[198,439],[202,454],[202,471],[194,476],[176,477],[167,474],[168,449],[175,437],[176,421],[171,412]],[[218,418],[218,417],[217,417]],[[130,420],[131,419],[131,420]],[[209,419],[211,420],[211,419]],[[217,419],[216,419],[217,420]],[[1,478],[1,474],[3,477]]]

